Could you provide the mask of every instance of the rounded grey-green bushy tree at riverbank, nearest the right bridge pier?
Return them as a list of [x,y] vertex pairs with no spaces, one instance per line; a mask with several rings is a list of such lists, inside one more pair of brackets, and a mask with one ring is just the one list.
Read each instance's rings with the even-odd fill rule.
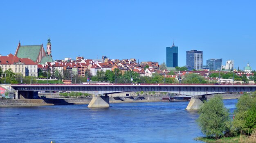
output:
[[199,113],[196,121],[207,137],[218,139],[229,129],[229,111],[225,108],[221,96],[215,96],[202,104]]

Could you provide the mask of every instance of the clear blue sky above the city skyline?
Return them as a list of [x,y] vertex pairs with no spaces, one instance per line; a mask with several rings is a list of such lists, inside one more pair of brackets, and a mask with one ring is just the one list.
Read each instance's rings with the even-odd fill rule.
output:
[[65,57],[139,61],[166,60],[172,39],[179,46],[179,66],[186,50],[210,58],[247,62],[256,69],[256,1],[236,0],[5,0],[0,1],[0,54],[21,45],[46,48]]

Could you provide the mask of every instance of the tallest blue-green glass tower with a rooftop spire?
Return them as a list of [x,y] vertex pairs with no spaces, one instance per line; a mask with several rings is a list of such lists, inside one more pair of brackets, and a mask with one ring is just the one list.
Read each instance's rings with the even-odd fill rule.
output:
[[177,67],[178,66],[178,47],[173,45],[166,47],[166,67]]

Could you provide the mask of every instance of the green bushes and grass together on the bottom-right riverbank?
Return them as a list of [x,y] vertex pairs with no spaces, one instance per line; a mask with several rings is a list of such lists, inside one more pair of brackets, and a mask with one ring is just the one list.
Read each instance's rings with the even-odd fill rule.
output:
[[209,143],[256,143],[256,98],[244,94],[236,104],[233,120],[225,108],[221,96],[216,96],[202,104],[197,119],[202,133],[206,137],[195,140]]

